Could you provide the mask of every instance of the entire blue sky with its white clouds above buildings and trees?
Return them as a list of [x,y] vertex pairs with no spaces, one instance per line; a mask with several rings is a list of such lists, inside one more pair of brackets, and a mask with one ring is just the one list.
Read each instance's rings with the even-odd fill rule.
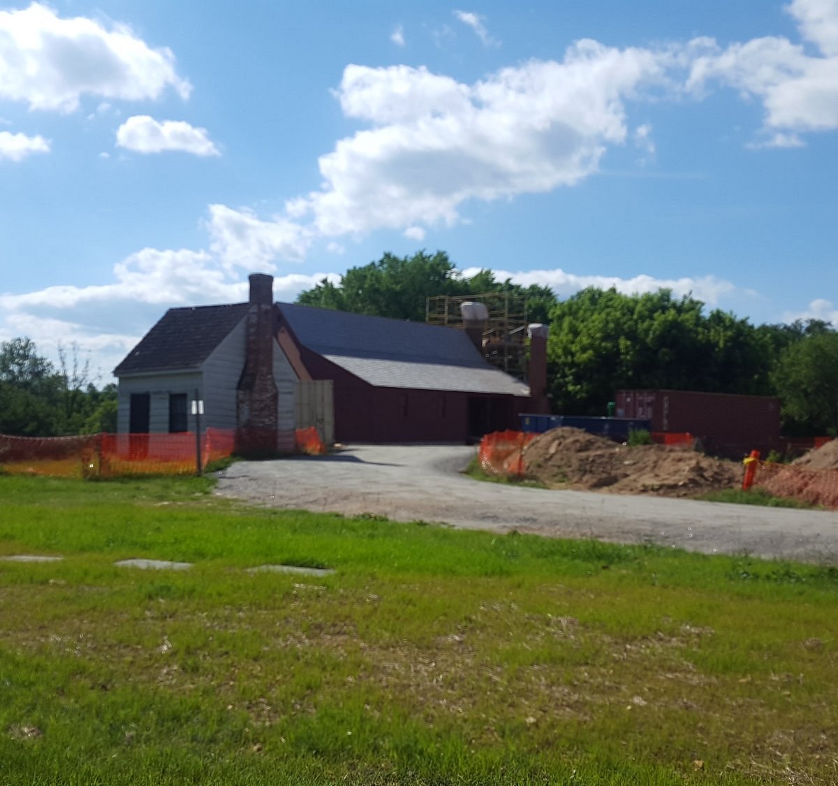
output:
[[0,339],[419,249],[838,323],[838,0],[0,0]]

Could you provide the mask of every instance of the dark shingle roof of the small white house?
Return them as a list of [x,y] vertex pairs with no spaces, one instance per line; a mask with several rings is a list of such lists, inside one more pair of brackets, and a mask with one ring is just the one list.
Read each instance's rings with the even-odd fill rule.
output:
[[169,308],[113,373],[199,369],[246,313],[247,303]]

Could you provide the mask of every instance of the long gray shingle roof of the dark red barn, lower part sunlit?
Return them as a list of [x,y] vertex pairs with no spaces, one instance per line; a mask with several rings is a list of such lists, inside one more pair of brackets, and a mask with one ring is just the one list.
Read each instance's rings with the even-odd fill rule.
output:
[[529,396],[454,328],[277,304],[300,344],[370,385]]

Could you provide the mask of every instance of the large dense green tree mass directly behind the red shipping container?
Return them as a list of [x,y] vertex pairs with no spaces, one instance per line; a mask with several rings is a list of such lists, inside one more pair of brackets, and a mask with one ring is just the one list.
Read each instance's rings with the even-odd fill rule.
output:
[[747,319],[669,290],[625,295],[588,288],[551,310],[555,406],[599,415],[620,388],[768,393],[766,342]]

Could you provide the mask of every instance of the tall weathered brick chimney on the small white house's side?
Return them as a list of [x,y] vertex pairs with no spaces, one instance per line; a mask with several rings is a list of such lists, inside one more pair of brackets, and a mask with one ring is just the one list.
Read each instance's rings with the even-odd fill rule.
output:
[[273,378],[273,277],[250,276],[251,297],[245,324],[245,368],[236,389],[236,452],[266,456],[277,451],[279,394]]

